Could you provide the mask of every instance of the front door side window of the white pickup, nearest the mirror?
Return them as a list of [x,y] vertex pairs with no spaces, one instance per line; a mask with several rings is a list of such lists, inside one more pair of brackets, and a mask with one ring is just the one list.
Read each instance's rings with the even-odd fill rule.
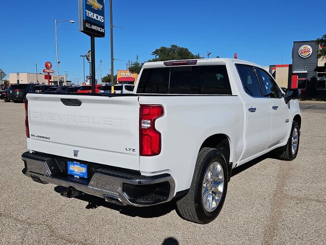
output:
[[281,91],[277,83],[263,69],[255,67],[264,97],[280,98]]

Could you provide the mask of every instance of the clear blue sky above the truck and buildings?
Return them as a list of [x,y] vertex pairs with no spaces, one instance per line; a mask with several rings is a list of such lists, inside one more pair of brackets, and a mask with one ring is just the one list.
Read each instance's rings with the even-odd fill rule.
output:
[[[177,44],[195,54],[233,57],[260,65],[291,63],[293,41],[313,40],[326,33],[326,1],[117,1],[113,0],[117,69],[126,62],[152,58],[160,46]],[[106,7],[106,37],[96,38],[96,66],[110,70],[110,15]],[[60,71],[68,79],[83,80],[83,58],[90,37],[78,31],[78,1],[2,1],[0,68],[11,72],[39,71],[45,61],[56,66],[54,19],[73,19],[58,27]],[[88,66],[87,66],[88,67]],[[88,68],[86,69],[86,74]]]

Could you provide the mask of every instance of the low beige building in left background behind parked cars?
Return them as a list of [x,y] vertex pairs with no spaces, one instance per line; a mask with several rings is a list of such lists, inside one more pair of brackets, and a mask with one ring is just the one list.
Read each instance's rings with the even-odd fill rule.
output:
[[[10,84],[29,84],[29,83],[39,83],[47,84],[47,79],[45,74],[36,74],[36,73],[11,73],[9,74]],[[58,84],[58,75],[51,75],[49,85],[67,85],[67,76],[59,75],[59,84]]]

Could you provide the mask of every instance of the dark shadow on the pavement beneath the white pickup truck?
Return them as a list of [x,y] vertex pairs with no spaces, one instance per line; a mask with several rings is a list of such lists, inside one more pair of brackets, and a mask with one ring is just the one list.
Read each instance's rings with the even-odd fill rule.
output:
[[[247,162],[239,167],[235,167],[232,170],[232,177],[237,174],[240,174],[242,171],[256,165],[257,163],[259,163],[267,158],[276,159],[271,154],[266,154],[261,157],[258,157],[258,158],[254,159],[250,162]],[[62,187],[62,186],[56,186],[54,188],[54,190],[56,192],[60,193],[61,195],[67,189],[68,188]],[[172,200],[171,202],[168,202],[168,203],[158,204],[158,205],[150,206],[150,207],[133,207],[133,206],[119,206],[119,205],[107,203],[102,198],[95,197],[93,195],[89,195],[86,193],[78,195],[77,197],[74,197],[74,198],[87,202],[88,204],[85,207],[86,209],[96,209],[96,208],[102,206],[102,207],[117,210],[121,214],[128,215],[131,217],[137,217],[137,216],[143,217],[143,218],[160,217],[160,216],[164,216],[164,215],[170,213],[171,211],[176,210],[176,200]],[[178,214],[177,210],[176,210],[176,212]],[[167,244],[170,244],[170,243],[167,243]],[[178,243],[172,243],[172,244],[178,244]]]

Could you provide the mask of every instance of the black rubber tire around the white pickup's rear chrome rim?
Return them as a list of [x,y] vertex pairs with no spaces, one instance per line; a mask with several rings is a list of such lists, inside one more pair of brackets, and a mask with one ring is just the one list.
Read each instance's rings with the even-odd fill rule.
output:
[[[208,167],[218,162],[223,168],[224,187],[222,197],[218,206],[208,212],[202,202],[202,186],[204,176]],[[203,148],[200,150],[194,171],[194,177],[188,193],[177,201],[177,210],[181,217],[198,224],[212,222],[220,213],[228,188],[228,167],[225,157],[221,151],[214,148]]]

